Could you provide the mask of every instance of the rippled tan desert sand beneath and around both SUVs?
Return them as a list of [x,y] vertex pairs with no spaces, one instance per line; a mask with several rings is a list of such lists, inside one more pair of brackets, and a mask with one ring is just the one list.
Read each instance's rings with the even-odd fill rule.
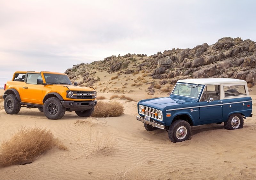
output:
[[[107,84],[111,76],[101,80]],[[124,81],[111,84],[109,89],[115,89]],[[112,99],[124,105],[124,114],[114,118],[83,118],[66,112],[60,120],[49,120],[35,108],[9,115],[0,99],[0,143],[21,127],[42,127],[51,129],[68,147],[68,151],[52,148],[31,164],[0,168],[0,179],[256,179],[256,88],[250,88],[254,116],[244,120],[243,129],[226,130],[223,123],[202,125],[192,127],[190,140],[172,143],[166,131],[148,132],[136,120],[137,102],[149,97],[148,86],[124,88],[125,96],[135,101]],[[98,90],[98,97],[107,98],[104,101],[112,101],[109,97],[116,94]],[[107,148],[97,148],[104,142]]]

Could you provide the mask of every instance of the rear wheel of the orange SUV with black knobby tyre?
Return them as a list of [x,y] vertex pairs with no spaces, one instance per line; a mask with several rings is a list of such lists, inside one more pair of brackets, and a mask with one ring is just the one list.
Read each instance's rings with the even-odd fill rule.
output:
[[9,94],[4,99],[4,110],[7,114],[18,114],[20,107],[20,101],[15,94]]

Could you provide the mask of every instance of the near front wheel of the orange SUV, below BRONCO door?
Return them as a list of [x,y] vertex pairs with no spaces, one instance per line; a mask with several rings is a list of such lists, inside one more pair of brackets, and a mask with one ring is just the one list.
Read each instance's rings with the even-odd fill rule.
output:
[[63,107],[57,97],[46,99],[44,103],[44,115],[48,119],[60,119],[64,116],[66,108]]

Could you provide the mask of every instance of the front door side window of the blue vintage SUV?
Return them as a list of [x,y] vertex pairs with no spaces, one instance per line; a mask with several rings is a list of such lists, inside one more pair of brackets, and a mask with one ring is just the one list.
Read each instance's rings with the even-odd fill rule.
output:
[[207,85],[204,88],[203,95],[200,101],[208,101],[210,98],[213,100],[220,100],[220,85]]

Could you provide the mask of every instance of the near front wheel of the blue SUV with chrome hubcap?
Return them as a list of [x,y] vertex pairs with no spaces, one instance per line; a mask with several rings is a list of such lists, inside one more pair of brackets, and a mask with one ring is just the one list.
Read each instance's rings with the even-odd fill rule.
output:
[[186,141],[190,138],[191,127],[187,121],[176,120],[172,122],[168,130],[169,139],[173,143]]

